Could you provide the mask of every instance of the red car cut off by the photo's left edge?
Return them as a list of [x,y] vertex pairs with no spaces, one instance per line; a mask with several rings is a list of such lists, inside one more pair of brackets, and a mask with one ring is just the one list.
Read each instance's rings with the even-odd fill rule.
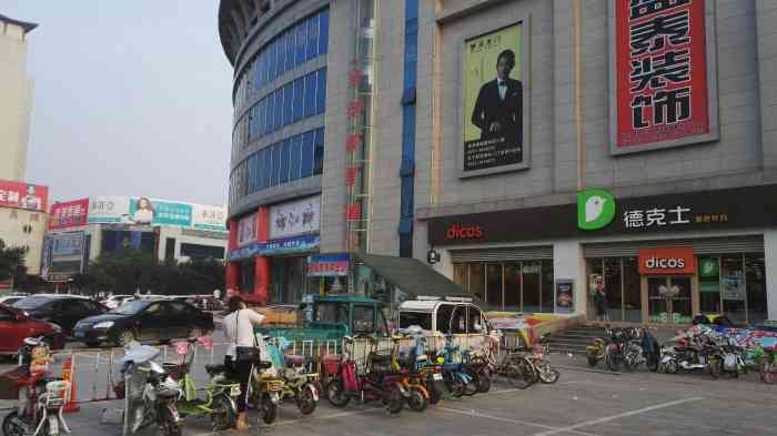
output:
[[0,304],[0,355],[14,355],[28,337],[44,336],[53,349],[64,347],[59,325],[33,320],[18,308]]

